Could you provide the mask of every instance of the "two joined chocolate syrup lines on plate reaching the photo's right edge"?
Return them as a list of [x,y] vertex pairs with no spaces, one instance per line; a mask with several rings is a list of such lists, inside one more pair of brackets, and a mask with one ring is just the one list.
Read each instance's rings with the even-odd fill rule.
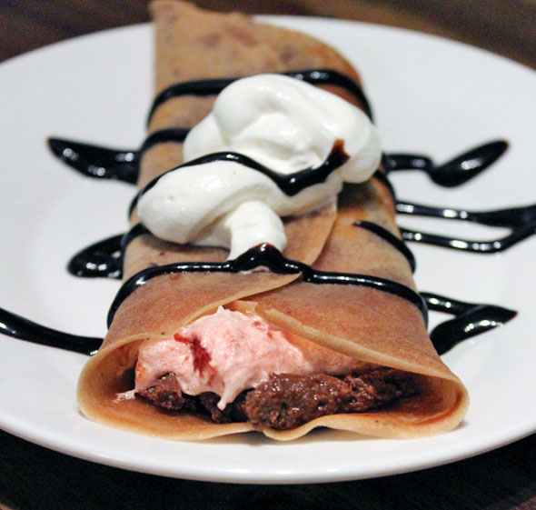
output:
[[487,226],[502,226],[511,229],[511,234],[490,241],[471,241],[445,235],[428,234],[401,227],[402,239],[425,245],[436,245],[455,250],[494,254],[502,252],[523,239],[536,234],[536,204],[524,207],[495,209],[492,211],[467,211],[463,209],[440,208],[430,205],[397,202],[396,210],[402,215],[438,217],[459,220]]

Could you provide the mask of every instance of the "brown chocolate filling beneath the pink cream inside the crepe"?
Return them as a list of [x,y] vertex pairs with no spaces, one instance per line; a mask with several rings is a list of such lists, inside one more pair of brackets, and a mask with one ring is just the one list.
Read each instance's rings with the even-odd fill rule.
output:
[[250,422],[256,429],[287,430],[324,415],[372,411],[416,393],[411,374],[379,367],[350,375],[271,374],[223,411],[217,407],[218,395],[185,395],[171,373],[136,395],[169,411],[208,414],[214,423]]

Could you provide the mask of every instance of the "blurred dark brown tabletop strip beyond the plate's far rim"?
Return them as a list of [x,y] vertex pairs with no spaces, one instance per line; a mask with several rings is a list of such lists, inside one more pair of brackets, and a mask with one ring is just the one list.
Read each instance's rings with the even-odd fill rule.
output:
[[[148,21],[149,0],[0,0],[0,61]],[[194,0],[214,10],[321,15],[442,35],[536,68],[536,0]]]

